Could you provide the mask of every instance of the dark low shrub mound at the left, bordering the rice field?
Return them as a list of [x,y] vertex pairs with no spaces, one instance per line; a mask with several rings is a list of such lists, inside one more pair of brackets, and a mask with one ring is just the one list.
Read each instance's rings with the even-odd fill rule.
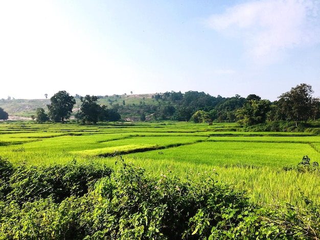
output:
[[4,193],[8,200],[19,204],[48,198],[61,202],[70,196],[83,196],[88,188],[102,178],[110,176],[111,169],[103,164],[77,163],[49,166],[18,166],[5,182],[10,189]]

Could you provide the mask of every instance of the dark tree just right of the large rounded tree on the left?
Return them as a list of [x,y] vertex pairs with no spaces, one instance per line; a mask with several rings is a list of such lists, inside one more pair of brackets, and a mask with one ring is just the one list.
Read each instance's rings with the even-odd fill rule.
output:
[[98,98],[94,95],[92,97],[86,95],[84,98],[81,97],[80,101],[82,102],[80,109],[82,122],[97,124],[101,112],[101,107],[97,104]]

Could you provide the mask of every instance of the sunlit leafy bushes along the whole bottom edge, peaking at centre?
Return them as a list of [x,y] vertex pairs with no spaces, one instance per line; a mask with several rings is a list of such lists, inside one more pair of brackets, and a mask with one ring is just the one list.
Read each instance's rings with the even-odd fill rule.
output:
[[[121,160],[121,158],[120,158]],[[216,172],[179,180],[121,162],[83,196],[0,201],[1,239],[317,239],[319,206],[252,204]],[[39,179],[40,180],[40,179]],[[38,179],[34,179],[38,181]]]

